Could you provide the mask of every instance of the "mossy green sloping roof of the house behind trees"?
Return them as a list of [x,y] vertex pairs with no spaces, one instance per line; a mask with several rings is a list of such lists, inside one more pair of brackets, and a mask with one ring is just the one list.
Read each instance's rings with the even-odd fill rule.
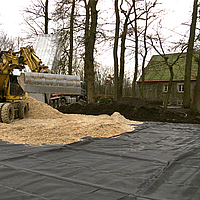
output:
[[[167,54],[169,64],[172,64],[178,57],[179,53]],[[199,52],[195,52],[192,62],[191,79],[196,79],[198,63],[195,58],[199,57]],[[176,64],[173,66],[174,79],[173,80],[184,80],[185,76],[185,61],[186,53],[183,53]],[[145,81],[169,81],[170,72],[168,66],[165,64],[164,59],[160,55],[152,56],[147,67],[145,68]],[[140,80],[142,77],[140,77]]]

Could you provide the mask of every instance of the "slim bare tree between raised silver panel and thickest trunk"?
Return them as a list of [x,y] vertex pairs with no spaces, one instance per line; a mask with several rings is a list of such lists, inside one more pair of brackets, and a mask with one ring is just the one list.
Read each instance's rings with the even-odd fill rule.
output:
[[85,32],[83,3],[80,0],[56,1],[53,14],[56,23],[54,32],[59,35],[62,51],[58,69],[64,74],[79,74],[78,68],[80,64],[83,65]]

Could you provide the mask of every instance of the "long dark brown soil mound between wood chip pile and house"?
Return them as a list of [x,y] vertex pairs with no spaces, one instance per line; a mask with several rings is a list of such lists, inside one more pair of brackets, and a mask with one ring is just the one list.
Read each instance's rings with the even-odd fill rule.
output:
[[191,109],[168,108],[164,110],[158,102],[124,97],[117,102],[104,104],[75,103],[61,106],[58,110],[67,114],[112,115],[119,112],[125,118],[135,121],[200,124],[200,114]]

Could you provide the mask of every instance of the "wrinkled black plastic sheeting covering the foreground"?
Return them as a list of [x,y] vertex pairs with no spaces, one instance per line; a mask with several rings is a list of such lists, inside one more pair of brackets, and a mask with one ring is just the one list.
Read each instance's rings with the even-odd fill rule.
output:
[[136,126],[64,146],[0,141],[0,199],[199,200],[200,125]]

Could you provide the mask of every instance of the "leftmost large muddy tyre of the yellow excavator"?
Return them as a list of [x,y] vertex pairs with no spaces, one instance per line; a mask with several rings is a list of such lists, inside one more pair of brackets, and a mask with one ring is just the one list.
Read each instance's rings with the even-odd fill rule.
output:
[[5,103],[1,108],[1,120],[3,123],[11,123],[14,121],[14,107],[11,103]]

